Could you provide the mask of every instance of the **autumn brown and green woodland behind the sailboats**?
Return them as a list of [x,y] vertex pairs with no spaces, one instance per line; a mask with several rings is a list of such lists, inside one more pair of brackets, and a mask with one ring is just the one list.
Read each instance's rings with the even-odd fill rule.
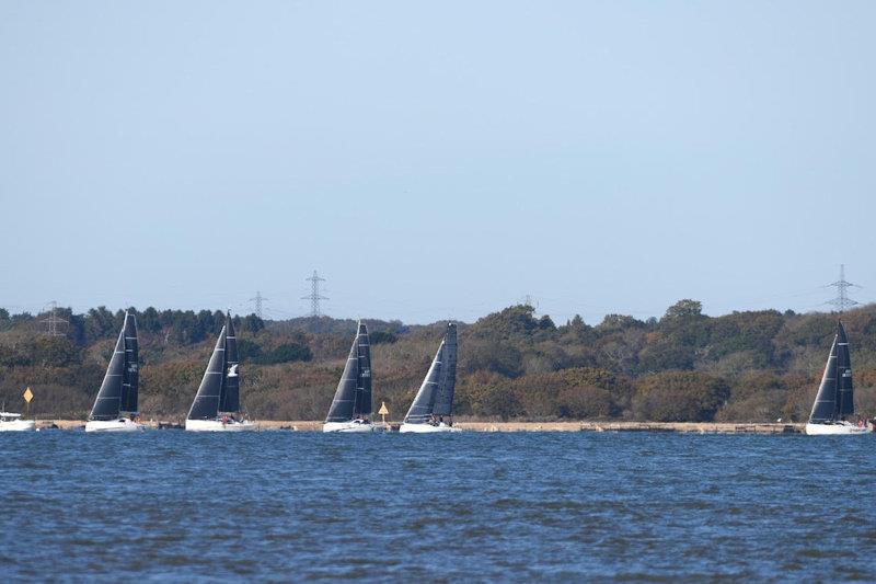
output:
[[[221,311],[138,311],[140,410],[181,417],[191,404]],[[58,310],[68,323],[44,334],[46,314],[0,309],[0,397],[47,416],[87,415],[124,311]],[[775,310],[702,313],[680,300],[662,318],[610,314],[557,325],[512,306],[460,325],[456,413],[480,419],[656,421],[805,420],[833,337],[837,316]],[[876,414],[876,306],[843,316],[852,344],[858,410]],[[406,411],[442,334],[442,323],[366,320],[373,345],[374,399],[391,417]],[[325,415],[356,323],[327,317],[234,318],[242,401],[262,419]]]

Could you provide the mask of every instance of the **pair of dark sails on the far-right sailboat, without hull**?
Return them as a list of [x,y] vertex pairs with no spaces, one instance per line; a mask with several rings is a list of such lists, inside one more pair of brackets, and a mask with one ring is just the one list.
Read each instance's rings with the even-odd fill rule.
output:
[[830,347],[830,356],[825,366],[825,375],[818,387],[812,404],[810,423],[827,423],[842,420],[855,413],[854,389],[852,387],[852,359],[849,354],[849,340],[842,322],[837,323],[837,335]]

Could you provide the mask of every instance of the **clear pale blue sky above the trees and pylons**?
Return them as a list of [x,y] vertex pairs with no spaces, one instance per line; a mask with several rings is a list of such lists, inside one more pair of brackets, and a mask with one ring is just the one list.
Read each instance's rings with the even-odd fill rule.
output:
[[876,2],[0,0],[0,306],[876,298]]

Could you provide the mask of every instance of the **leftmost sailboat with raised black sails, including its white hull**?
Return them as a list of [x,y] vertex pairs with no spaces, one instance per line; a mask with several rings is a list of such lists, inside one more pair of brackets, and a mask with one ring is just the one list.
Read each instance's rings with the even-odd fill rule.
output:
[[85,432],[135,432],[143,428],[142,424],[137,423],[137,394],[140,388],[138,353],[137,319],[126,311],[125,323],[85,423]]

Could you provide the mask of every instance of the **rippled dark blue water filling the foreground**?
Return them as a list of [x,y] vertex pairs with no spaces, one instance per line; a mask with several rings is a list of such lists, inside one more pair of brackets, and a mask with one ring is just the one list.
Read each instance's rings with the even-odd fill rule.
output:
[[4,579],[876,579],[873,437],[0,435]]

